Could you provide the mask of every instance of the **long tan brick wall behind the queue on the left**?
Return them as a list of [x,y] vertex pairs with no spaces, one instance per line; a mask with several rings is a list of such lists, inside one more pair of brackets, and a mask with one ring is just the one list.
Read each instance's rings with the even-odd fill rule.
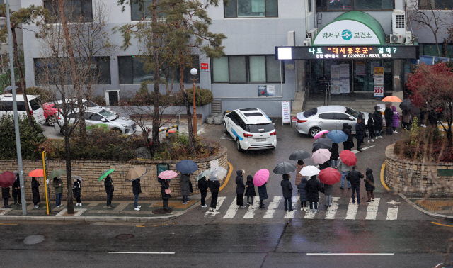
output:
[[[194,160],[198,164],[198,171],[190,176],[190,181],[193,185],[193,194],[200,194],[197,187],[197,177],[200,172],[210,169],[210,161],[219,160],[219,167],[228,169],[227,164],[227,153],[226,148],[221,147],[220,152],[212,157],[207,157],[200,160]],[[103,200],[106,198],[104,181],[98,182],[99,176],[105,169],[115,169],[113,172],[112,179],[115,186],[113,193],[113,199],[125,200],[134,199],[132,194],[132,182],[126,182],[126,174],[132,167],[140,166],[147,167],[147,174],[140,180],[142,184],[142,194],[140,199],[159,199],[161,198],[161,186],[157,182],[157,164],[169,164],[171,170],[175,170],[176,163],[179,160],[132,160],[130,162],[116,162],[116,161],[72,161],[71,171],[72,175],[79,175],[84,178],[86,184],[82,185],[81,199],[83,200]],[[28,173],[33,169],[42,169],[42,162],[40,161],[23,161],[23,172],[25,179],[25,194],[27,200],[31,200],[31,177],[28,177]],[[64,161],[48,161],[47,169],[50,173],[55,169],[66,169]],[[6,171],[18,170],[17,161],[0,161],[0,174]],[[179,172],[178,172],[179,173]],[[40,197],[41,201],[45,201],[45,188],[43,184],[44,178],[39,177],[38,182],[40,186]],[[64,194],[67,189],[67,177],[62,176],[62,182],[64,184],[63,199],[66,199]],[[170,189],[171,197],[180,196],[180,183],[179,177],[171,179]],[[71,180],[71,189],[72,189]],[[224,179],[220,181],[220,184],[224,183]],[[55,200],[54,189],[52,186],[52,178],[50,179],[50,199]]]

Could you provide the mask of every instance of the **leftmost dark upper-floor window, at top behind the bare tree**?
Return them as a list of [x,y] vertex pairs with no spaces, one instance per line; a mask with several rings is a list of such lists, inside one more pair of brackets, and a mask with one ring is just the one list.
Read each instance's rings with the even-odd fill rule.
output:
[[[93,5],[91,0],[65,0],[64,15],[69,22],[93,21]],[[44,0],[44,7],[49,11],[50,18],[46,23],[59,22],[58,0]]]

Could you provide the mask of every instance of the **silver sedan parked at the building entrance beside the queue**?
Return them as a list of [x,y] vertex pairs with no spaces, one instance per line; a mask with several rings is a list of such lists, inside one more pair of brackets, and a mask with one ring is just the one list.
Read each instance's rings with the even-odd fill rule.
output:
[[[352,133],[355,133],[355,123],[359,113],[365,115],[367,124],[368,113],[358,112],[345,106],[321,106],[308,111],[297,113],[296,130],[302,134],[308,134],[313,138],[321,130],[341,130],[343,123],[352,125]],[[365,128],[365,133],[367,133]]]

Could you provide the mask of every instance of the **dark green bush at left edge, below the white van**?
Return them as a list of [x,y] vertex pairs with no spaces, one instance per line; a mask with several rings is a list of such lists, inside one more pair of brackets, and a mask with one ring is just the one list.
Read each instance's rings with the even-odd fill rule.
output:
[[[35,123],[33,119],[33,123]],[[35,129],[28,123],[26,116],[19,116],[19,132],[21,133],[21,151],[23,160],[39,160],[39,146],[44,143],[45,135],[40,125],[35,123]],[[16,135],[13,116],[0,118],[0,158],[4,160],[17,159]]]

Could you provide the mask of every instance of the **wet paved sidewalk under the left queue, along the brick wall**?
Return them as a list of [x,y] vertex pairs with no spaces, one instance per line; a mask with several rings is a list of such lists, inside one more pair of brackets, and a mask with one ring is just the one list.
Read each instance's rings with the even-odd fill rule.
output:
[[[206,199],[210,198],[210,193]],[[151,222],[153,220],[171,220],[200,206],[199,194],[190,196],[187,205],[183,205],[181,198],[169,199],[168,207],[173,209],[171,213],[159,214],[162,208],[162,199],[139,200],[140,211],[134,210],[134,201],[112,201],[113,208],[109,209],[105,201],[83,201],[83,206],[75,206],[74,215],[67,215],[65,202],[61,208],[56,208],[55,201],[50,205],[52,211],[47,215],[45,203],[40,203],[39,208],[33,208],[33,203],[28,203],[27,215],[22,216],[22,206],[10,205],[11,208],[0,208],[0,220],[50,220],[50,221],[86,221],[86,222]],[[11,200],[10,200],[11,201]],[[154,213],[153,213],[154,211]]]

